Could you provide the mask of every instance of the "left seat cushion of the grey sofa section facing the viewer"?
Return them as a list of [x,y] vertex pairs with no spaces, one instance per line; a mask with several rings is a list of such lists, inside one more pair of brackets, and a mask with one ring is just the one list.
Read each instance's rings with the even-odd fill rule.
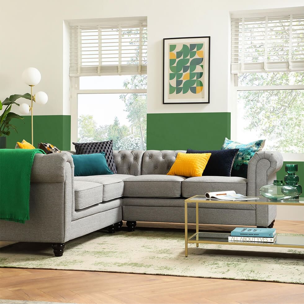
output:
[[139,175],[124,181],[123,196],[180,197],[181,182],[186,177],[162,174]]

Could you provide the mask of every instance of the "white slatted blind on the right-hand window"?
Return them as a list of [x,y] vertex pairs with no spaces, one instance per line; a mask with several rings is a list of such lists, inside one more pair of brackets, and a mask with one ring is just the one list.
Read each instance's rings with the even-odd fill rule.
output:
[[304,14],[231,18],[231,73],[304,70]]

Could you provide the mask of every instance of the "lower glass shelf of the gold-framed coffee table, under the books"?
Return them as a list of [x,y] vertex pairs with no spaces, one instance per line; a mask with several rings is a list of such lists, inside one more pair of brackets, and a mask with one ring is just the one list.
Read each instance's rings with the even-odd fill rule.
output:
[[[272,246],[272,245],[290,245],[290,246],[301,246],[304,248],[304,237],[299,235],[277,235],[275,243],[259,243],[259,242],[229,242],[228,236],[230,233],[221,232],[198,232],[198,240],[204,242],[225,242],[228,245],[233,245],[235,243],[244,245],[255,245],[255,246]],[[197,241],[196,234],[194,234],[188,241]]]

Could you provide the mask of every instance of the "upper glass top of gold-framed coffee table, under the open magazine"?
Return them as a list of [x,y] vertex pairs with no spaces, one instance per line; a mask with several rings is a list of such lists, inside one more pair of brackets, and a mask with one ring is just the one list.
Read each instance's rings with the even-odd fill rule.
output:
[[304,206],[304,198],[288,199],[283,202],[274,202],[265,197],[259,199],[250,199],[246,201],[224,201],[217,199],[207,199],[205,195],[194,195],[189,199],[185,199],[185,203],[217,203],[217,204],[252,204],[252,205],[285,205],[285,206]]

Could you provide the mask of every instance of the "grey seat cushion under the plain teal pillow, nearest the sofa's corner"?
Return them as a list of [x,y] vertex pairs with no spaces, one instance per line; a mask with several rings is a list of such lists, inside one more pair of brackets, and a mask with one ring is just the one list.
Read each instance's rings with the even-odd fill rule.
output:
[[[123,181],[132,177],[128,174],[112,175],[92,175],[92,176],[75,176],[75,181],[89,181],[98,183],[102,186],[102,201],[106,202],[111,199],[117,199],[123,196]],[[98,202],[98,203],[100,203]]]

